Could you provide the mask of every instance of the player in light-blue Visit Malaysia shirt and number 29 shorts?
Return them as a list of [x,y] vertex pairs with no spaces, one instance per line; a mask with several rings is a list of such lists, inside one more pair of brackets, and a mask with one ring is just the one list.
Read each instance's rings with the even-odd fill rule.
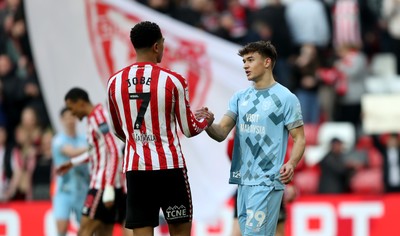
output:
[[[236,127],[229,182],[238,185],[238,218],[242,235],[275,235],[284,185],[305,148],[303,119],[297,97],[277,83],[272,69],[276,49],[258,41],[239,50],[252,86],[236,92],[220,123],[206,129],[221,142]],[[210,111],[196,111],[201,118]],[[284,164],[288,135],[294,140]]]

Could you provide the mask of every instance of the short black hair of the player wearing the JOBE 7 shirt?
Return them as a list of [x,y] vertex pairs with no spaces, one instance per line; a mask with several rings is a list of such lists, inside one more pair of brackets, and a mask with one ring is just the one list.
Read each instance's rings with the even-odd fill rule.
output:
[[150,48],[158,40],[162,39],[162,33],[156,23],[142,21],[131,29],[130,37],[135,49]]

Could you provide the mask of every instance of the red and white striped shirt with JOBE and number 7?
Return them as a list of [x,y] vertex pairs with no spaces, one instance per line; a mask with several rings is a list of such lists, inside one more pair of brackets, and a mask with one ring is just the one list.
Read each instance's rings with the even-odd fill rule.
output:
[[186,166],[177,124],[186,137],[207,128],[190,110],[186,80],[153,63],[135,63],[108,81],[115,133],[125,140],[123,171]]

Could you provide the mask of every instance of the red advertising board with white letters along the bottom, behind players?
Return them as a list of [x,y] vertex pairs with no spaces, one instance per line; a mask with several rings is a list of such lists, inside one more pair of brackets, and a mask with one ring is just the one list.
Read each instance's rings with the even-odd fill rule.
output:
[[[193,236],[230,236],[233,201],[229,199],[213,223],[194,222]],[[387,195],[313,195],[302,196],[287,206],[286,236],[382,236],[400,235],[400,194]],[[56,235],[50,202],[13,202],[0,204],[0,235]],[[77,227],[69,227],[75,236]],[[122,235],[116,226],[113,235]],[[166,236],[164,222],[155,229]]]

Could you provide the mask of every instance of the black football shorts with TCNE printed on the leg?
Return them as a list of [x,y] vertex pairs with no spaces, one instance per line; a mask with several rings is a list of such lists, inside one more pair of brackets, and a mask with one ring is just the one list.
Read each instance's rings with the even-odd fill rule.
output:
[[160,209],[168,224],[192,221],[192,196],[186,169],[128,171],[128,229],[159,224]]

